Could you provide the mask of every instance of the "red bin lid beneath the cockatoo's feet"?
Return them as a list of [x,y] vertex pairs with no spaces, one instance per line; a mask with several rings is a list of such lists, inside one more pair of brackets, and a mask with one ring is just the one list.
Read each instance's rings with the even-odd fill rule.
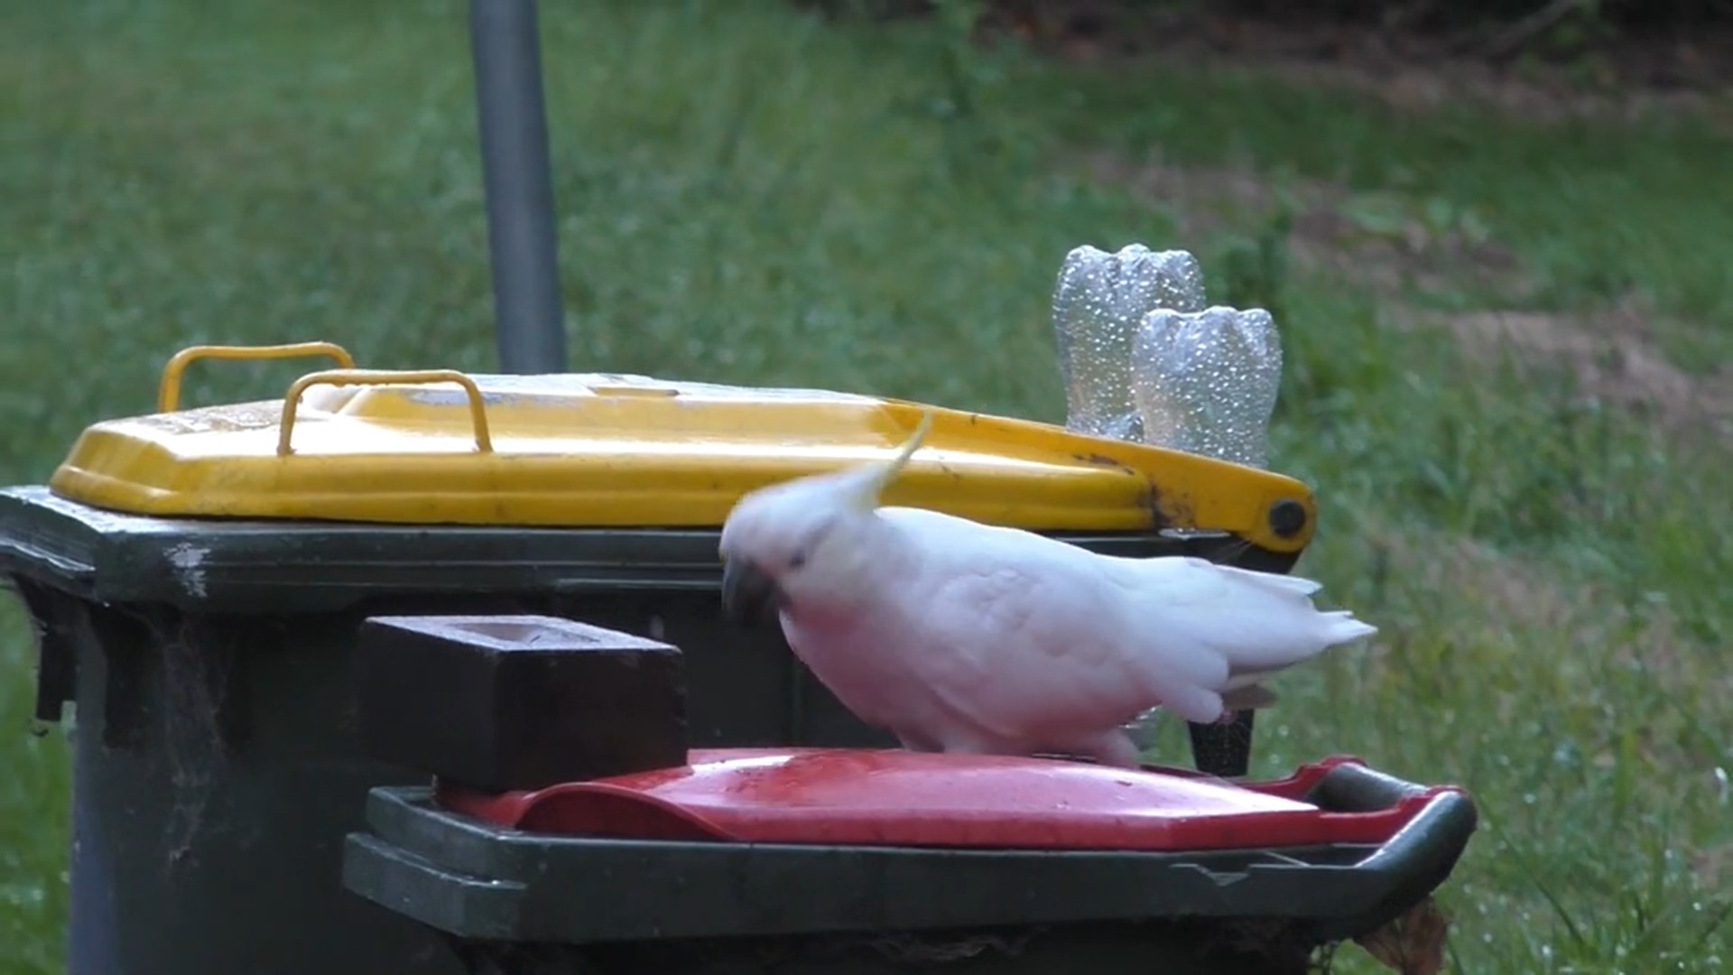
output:
[[1381,843],[1437,789],[1376,812],[1305,802],[1329,758],[1288,779],[898,749],[693,749],[688,765],[503,795],[438,789],[445,808],[511,829],[612,840],[1222,850]]

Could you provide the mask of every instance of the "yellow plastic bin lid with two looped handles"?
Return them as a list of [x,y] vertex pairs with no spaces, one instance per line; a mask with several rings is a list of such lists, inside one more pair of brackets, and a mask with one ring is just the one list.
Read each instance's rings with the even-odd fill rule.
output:
[[[345,368],[302,376],[281,401],[175,409],[194,359],[308,352]],[[631,375],[352,366],[329,344],[187,349],[158,413],[88,427],[50,489],[163,517],[716,527],[747,491],[889,458],[925,409]],[[1227,531],[1272,552],[1303,548],[1315,519],[1291,477],[938,408],[884,501],[1035,531]]]

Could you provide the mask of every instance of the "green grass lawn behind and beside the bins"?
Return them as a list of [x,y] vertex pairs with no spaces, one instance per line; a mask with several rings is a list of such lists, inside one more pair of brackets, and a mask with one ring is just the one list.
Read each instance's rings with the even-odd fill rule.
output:
[[[1279,304],[1272,465],[1324,507],[1301,571],[1383,631],[1284,678],[1255,772],[1350,751],[1473,789],[1485,826],[1442,897],[1454,972],[1719,966],[1726,441],[1397,324],[1421,305],[1568,321],[1638,293],[1657,347],[1712,373],[1733,359],[1724,132],[1399,113],[776,3],[555,5],[544,50],[575,368],[1059,420],[1047,298],[1069,246],[1185,246],[1213,300]],[[196,342],[492,368],[463,3],[14,5],[0,54],[0,482],[147,411]],[[1189,201],[1092,179],[1080,151],[1471,213],[1525,283],[1246,265],[1284,253],[1269,220],[1175,239]],[[269,397],[291,371],[199,366],[187,399]],[[28,734],[33,647],[0,605],[0,972],[55,972],[68,749]],[[1180,748],[1173,730],[1161,758]],[[1336,970],[1374,968],[1348,949]]]

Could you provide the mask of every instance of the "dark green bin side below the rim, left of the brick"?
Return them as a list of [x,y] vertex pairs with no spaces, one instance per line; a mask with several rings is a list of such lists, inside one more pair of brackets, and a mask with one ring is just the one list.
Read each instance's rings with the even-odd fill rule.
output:
[[331,892],[354,796],[416,781],[350,748],[341,616],[68,609],[107,630],[68,647],[68,972],[458,972],[416,925]]

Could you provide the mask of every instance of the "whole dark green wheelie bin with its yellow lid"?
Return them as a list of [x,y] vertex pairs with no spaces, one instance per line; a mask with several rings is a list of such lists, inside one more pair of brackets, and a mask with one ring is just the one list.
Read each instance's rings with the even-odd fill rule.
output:
[[[95,423],[47,486],[0,491],[36,713],[76,708],[75,975],[456,972],[340,883],[369,789],[426,781],[357,748],[367,616],[551,612],[674,642],[700,748],[886,741],[775,630],[723,623],[716,534],[742,491],[887,456],[917,406],[340,368],[281,401],[177,409],[201,356],[307,350],[331,349],[185,350],[158,413]],[[960,411],[887,500],[1274,571],[1314,519],[1277,474]],[[1223,767],[1243,760],[1230,743]]]

